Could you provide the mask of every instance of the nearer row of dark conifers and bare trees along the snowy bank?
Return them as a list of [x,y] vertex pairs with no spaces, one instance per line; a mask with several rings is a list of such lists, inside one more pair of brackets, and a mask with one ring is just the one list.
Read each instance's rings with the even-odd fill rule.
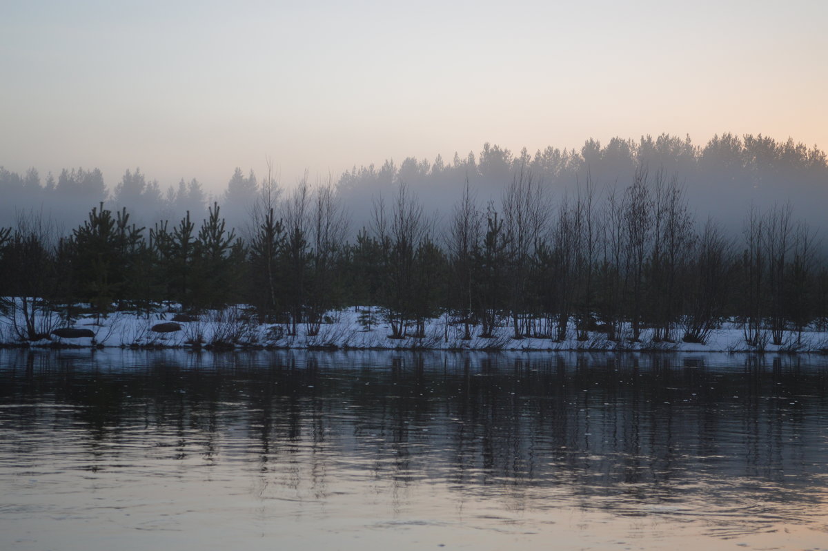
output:
[[76,303],[107,315],[164,301],[187,312],[248,304],[259,321],[311,336],[331,310],[374,305],[392,339],[425,336],[440,315],[465,339],[508,326],[514,339],[639,341],[649,330],[703,343],[732,320],[763,346],[828,325],[826,258],[791,205],[750,209],[733,237],[699,220],[662,168],[553,197],[524,165],[498,201],[478,201],[466,181],[440,223],[397,179],[355,231],[333,181],[282,193],[267,176],[255,189],[237,229],[218,202],[151,227],[99,203],[70,234],[19,216],[0,230],[0,296],[18,336],[40,338],[39,312],[70,317]]

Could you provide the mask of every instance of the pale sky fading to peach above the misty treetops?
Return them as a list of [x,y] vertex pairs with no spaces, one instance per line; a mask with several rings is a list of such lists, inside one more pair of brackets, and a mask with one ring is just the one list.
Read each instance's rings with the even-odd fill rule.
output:
[[619,136],[828,148],[828,2],[0,3],[0,166],[223,189]]

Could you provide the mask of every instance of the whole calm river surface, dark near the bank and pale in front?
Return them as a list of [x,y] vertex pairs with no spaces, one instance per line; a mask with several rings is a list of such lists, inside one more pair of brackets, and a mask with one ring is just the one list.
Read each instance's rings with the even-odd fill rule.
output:
[[828,548],[819,356],[0,350],[0,549]]

